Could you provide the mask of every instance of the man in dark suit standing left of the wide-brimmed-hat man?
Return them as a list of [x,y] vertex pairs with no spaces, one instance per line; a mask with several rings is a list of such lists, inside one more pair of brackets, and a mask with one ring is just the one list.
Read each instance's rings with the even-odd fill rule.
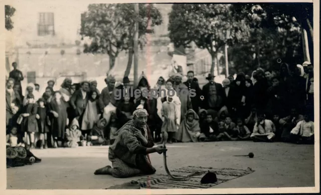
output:
[[195,82],[194,79],[194,71],[190,70],[187,72],[188,80],[184,82],[184,84],[189,87],[189,90],[194,89],[196,92],[195,97],[191,97],[192,108],[193,110],[198,113],[201,108],[201,99],[200,96],[202,95],[202,89],[200,88],[199,84]]

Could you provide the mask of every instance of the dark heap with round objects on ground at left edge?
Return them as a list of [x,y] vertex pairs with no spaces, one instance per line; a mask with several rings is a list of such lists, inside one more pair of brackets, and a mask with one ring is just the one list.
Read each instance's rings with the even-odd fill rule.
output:
[[41,162],[40,158],[37,158],[30,150],[24,147],[8,147],[7,146],[7,168],[24,166],[27,164],[33,164]]

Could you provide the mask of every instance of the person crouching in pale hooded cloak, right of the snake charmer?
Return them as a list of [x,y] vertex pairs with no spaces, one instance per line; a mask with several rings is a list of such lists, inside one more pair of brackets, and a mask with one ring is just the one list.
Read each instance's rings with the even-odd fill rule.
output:
[[178,131],[174,134],[174,139],[179,142],[198,142],[201,135],[199,116],[192,109],[184,115]]

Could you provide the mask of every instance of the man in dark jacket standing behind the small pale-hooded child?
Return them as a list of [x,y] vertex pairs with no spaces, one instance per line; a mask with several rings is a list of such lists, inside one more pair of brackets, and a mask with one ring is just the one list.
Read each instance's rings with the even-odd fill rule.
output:
[[88,99],[89,99],[89,82],[82,81],[81,88],[76,90],[71,95],[71,98],[70,98],[70,105],[74,109],[75,117],[79,117],[78,121],[80,126],[81,126],[83,114],[87,106]]

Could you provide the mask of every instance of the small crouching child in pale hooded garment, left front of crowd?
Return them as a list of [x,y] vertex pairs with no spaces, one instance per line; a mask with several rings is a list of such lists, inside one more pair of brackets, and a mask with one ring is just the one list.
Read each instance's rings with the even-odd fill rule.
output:
[[75,148],[81,144],[81,131],[79,130],[79,123],[77,119],[71,122],[70,128],[66,129],[66,139],[65,147]]

